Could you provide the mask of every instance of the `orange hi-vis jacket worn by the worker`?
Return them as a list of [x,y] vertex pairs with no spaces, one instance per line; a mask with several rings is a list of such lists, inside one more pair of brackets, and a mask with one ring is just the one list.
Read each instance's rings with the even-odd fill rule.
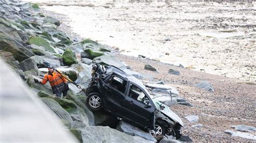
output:
[[55,85],[59,85],[60,83],[68,83],[68,80],[66,78],[62,77],[57,71],[52,72],[52,75],[47,73],[44,75],[44,79],[41,81],[41,84],[45,84],[47,81],[50,82],[51,87],[54,87]]

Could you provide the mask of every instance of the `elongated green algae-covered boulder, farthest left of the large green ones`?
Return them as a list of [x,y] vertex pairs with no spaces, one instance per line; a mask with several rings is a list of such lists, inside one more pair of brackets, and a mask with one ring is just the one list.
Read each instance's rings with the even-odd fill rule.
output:
[[42,46],[42,47],[45,48],[45,51],[56,53],[55,49],[53,49],[50,46],[49,42],[46,41],[44,38],[32,36],[32,37],[29,38],[29,44],[35,44],[37,46]]

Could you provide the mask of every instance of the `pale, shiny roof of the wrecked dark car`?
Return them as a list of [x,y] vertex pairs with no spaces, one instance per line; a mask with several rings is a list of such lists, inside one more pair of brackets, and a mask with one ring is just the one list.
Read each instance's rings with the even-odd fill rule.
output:
[[126,80],[128,80],[128,81],[138,85],[139,87],[143,88],[144,90],[146,90],[145,85],[143,84],[142,81],[140,81],[138,78],[134,77],[131,74],[125,73],[125,71],[123,71],[122,69],[119,69],[119,68],[114,67],[114,66],[107,66],[106,74],[109,74],[111,72],[116,74],[116,75],[119,75],[121,77],[126,78]]

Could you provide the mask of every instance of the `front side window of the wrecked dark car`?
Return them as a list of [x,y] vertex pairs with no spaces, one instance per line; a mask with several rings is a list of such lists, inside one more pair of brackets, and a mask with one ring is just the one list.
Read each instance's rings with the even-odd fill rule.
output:
[[129,96],[146,105],[149,104],[149,98],[147,98],[145,93],[136,85],[130,84]]

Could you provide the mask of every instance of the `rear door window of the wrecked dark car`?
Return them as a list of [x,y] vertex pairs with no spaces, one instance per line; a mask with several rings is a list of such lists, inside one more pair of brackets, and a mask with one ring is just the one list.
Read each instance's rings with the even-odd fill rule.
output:
[[112,76],[110,80],[110,85],[119,90],[120,92],[125,92],[127,82],[123,80],[122,78],[119,78],[117,76]]

